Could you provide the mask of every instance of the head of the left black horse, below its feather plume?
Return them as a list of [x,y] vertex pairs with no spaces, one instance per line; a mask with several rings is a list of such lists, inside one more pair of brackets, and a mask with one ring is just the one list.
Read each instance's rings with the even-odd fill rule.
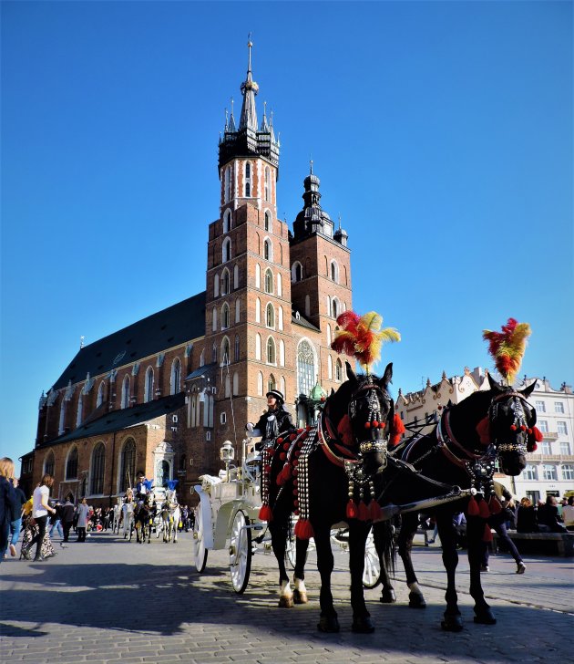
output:
[[367,471],[382,470],[395,415],[387,390],[393,364],[387,365],[380,379],[373,374],[355,375],[348,362],[346,369],[347,380],[329,398],[329,417],[344,444],[364,458]]

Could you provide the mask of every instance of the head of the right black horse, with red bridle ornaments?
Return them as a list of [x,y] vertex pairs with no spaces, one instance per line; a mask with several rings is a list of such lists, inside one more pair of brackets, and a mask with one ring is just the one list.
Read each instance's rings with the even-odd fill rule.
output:
[[526,453],[533,440],[536,410],[528,403],[536,383],[526,389],[505,388],[490,374],[492,399],[488,409],[488,436],[497,448],[500,470],[519,475],[526,468]]

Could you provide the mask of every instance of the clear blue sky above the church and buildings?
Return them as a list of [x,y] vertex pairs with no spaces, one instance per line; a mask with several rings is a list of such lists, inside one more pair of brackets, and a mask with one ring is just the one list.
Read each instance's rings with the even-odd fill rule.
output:
[[491,367],[573,382],[572,4],[2,3],[2,455],[86,343],[205,288],[224,108],[253,72],[292,223],[313,155],[395,389]]

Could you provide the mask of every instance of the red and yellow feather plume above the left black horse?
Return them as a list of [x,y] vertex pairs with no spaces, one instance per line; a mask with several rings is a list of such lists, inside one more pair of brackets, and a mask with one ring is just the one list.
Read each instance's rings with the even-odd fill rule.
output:
[[394,327],[384,327],[383,316],[370,311],[364,316],[345,311],[337,318],[340,329],[335,331],[331,348],[356,358],[369,373],[371,365],[381,358],[381,347],[388,341],[400,341],[401,335]]

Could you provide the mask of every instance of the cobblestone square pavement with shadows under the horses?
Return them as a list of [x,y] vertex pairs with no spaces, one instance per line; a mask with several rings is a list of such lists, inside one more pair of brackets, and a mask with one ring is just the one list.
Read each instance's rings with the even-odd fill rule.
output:
[[515,574],[507,555],[491,556],[483,578],[497,625],[475,625],[466,557],[457,586],[465,629],[443,632],[446,577],[440,549],[417,546],[415,565],[428,607],[406,606],[402,565],[395,605],[367,591],[377,629],[351,631],[347,555],[337,552],[333,595],[342,630],[320,634],[319,579],[313,553],[306,577],[310,602],[280,609],[272,555],[253,557],[250,584],[232,591],[228,555],[210,552],[203,575],[191,565],[190,534],[177,545],[127,543],[94,534],[43,563],[0,565],[0,659],[65,662],[565,662],[574,633],[572,560],[526,556]]

